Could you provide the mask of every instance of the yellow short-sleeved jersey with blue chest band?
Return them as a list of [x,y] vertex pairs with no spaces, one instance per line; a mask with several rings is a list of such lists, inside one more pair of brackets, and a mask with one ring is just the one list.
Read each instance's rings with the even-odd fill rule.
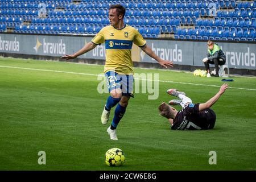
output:
[[92,39],[94,44],[106,46],[106,63],[104,73],[115,71],[119,74],[133,74],[133,61],[131,60],[131,47],[133,43],[139,47],[146,44],[142,35],[129,25],[121,29],[106,26]]

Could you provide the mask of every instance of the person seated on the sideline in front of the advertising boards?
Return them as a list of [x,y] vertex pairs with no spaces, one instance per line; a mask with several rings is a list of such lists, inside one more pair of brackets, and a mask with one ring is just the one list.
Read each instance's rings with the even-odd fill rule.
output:
[[203,59],[205,69],[207,71],[207,77],[210,77],[210,67],[209,64],[215,65],[216,75],[211,75],[218,77],[218,65],[224,65],[226,63],[226,56],[221,48],[212,40],[207,42],[208,45],[208,54],[207,57]]

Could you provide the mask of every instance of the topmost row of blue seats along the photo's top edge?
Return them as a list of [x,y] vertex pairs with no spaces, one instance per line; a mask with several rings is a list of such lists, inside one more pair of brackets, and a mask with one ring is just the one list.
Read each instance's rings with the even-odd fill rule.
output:
[[[3,1],[5,2],[5,1]],[[14,2],[14,1],[11,1]],[[27,3],[24,3],[26,1],[22,1],[22,3],[2,3],[0,5],[1,8],[23,8],[23,7],[27,7],[27,8],[36,8],[38,7],[38,3],[42,3],[44,1],[36,1],[37,3],[34,3],[33,1],[27,1]],[[33,3],[31,3],[33,2]],[[71,3],[71,1],[45,1],[46,3],[46,7],[47,8],[55,8],[55,7],[63,7],[65,9],[85,9],[85,8],[100,8],[100,7],[108,7],[110,3],[112,3],[111,1],[99,1],[99,2],[81,2],[79,4],[73,4]],[[143,2],[143,3],[134,3],[134,1],[129,1],[129,2],[125,2],[123,1],[123,4],[127,7],[127,8],[162,8],[162,9],[195,9],[195,8],[207,8],[209,7],[209,3],[215,3],[217,9],[219,9],[220,7],[224,8],[224,7],[255,7],[255,3],[253,2],[236,2],[235,0],[230,0],[230,1],[147,1],[147,2]]]

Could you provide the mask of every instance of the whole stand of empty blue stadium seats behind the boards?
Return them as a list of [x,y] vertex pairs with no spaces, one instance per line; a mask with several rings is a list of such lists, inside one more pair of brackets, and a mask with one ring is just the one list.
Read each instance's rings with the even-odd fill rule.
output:
[[[42,2],[48,5],[47,18],[38,18],[37,7]],[[109,24],[109,5],[117,2],[119,1],[88,0],[76,5],[68,0],[3,0],[0,4],[0,31],[14,28],[14,32],[29,34],[97,34]],[[213,19],[201,19],[202,16],[209,15],[209,3],[212,2],[216,3],[217,16]],[[125,22],[136,27],[146,38],[155,38],[161,33],[174,33],[175,38],[185,39],[200,39],[200,36],[202,39],[256,39],[256,2],[209,0],[121,3],[127,8]],[[55,10],[57,7],[64,9]],[[229,7],[229,10],[222,10],[221,7]],[[30,25],[23,24],[24,21],[30,22]],[[180,26],[194,27],[194,31],[189,29],[193,34],[180,31]]]

